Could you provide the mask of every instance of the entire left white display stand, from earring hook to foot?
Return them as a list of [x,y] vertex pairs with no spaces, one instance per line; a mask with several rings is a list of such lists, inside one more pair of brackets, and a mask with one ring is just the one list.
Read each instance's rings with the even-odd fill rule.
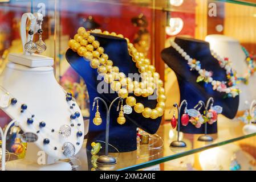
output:
[[[38,14],[37,14],[38,15]],[[35,20],[31,13],[23,14],[21,24],[21,37],[24,45],[26,38],[26,19]],[[37,19],[42,18],[38,15]],[[34,27],[36,32],[36,26]],[[24,49],[25,50],[25,49]],[[66,101],[66,93],[55,79],[54,70],[52,68],[53,59],[51,57],[40,56],[36,54],[23,55],[11,54],[10,62],[0,76],[0,85],[15,96],[17,100],[27,105],[30,113],[35,114],[35,118],[42,119],[47,129],[39,133],[38,140],[34,143],[28,143],[25,159],[14,160],[6,163],[7,170],[71,170],[71,164],[67,162],[59,162],[59,159],[66,159],[62,147],[63,143],[70,142],[75,147],[75,154],[82,147],[84,134],[77,137],[78,131],[84,131],[83,117],[78,118],[80,126],[74,126],[71,135],[68,138],[60,137],[58,130],[60,126],[70,125],[70,106]],[[28,67],[29,66],[29,67]],[[1,91],[1,94],[5,94]],[[19,121],[19,127],[24,133],[36,133],[27,125],[27,118],[21,114],[20,110],[15,107],[2,108],[11,118]],[[74,110],[81,113],[77,104],[74,104]],[[35,123],[35,125],[37,125]],[[56,132],[52,132],[55,129]],[[50,139],[50,144],[43,144],[44,138]],[[80,144],[76,144],[79,142]],[[54,146],[58,150],[54,150]],[[44,153],[45,152],[45,153]],[[38,163],[42,157],[43,163]]]

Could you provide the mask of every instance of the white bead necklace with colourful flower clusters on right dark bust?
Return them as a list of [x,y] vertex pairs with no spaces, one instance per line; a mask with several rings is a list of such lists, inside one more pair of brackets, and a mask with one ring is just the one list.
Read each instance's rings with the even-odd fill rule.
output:
[[236,80],[237,78],[235,77],[235,72],[233,72],[231,68],[231,63],[228,59],[221,59],[220,56],[217,56],[216,53],[212,53],[212,56],[215,57],[221,68],[224,68],[226,70],[226,75],[227,75],[227,82],[224,81],[218,81],[218,80],[213,80],[213,72],[211,71],[206,71],[205,69],[201,69],[201,63],[200,61],[196,59],[192,59],[185,51],[182,49],[178,44],[175,42],[171,42],[171,46],[176,49],[178,53],[186,61],[188,61],[188,65],[190,67],[190,71],[197,71],[199,76],[197,77],[197,82],[204,81],[206,83],[211,83],[213,86],[213,90],[217,90],[218,92],[224,92],[226,93],[226,97],[236,97],[238,96],[240,90],[235,87]]

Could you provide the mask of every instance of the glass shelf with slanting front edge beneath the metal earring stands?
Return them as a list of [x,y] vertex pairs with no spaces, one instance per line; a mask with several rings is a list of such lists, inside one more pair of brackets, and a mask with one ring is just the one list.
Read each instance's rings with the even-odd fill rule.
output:
[[[207,150],[222,146],[228,143],[232,143],[245,138],[253,137],[256,133],[244,134],[243,126],[245,124],[237,119],[227,119],[220,115],[218,119],[218,133],[210,134],[213,137],[213,142],[200,142],[198,137],[202,134],[184,134],[181,133],[180,139],[183,140],[187,147],[174,149],[170,148],[169,145],[173,140],[177,139],[177,131],[173,130],[169,122],[161,125],[157,131],[157,135],[153,135],[152,146],[139,145],[138,150],[131,152],[122,152],[119,154],[117,164],[115,166],[108,166],[104,168],[97,168],[92,165],[90,151],[86,150],[86,140],[84,140],[83,148],[79,151],[76,158],[80,160],[80,167],[77,170],[138,170],[145,167],[154,166],[156,164],[168,162],[169,160],[181,158],[190,154],[195,154]],[[156,139],[157,136],[163,140]],[[104,155],[104,148],[101,149]],[[112,156],[117,156],[117,153],[110,153]]]

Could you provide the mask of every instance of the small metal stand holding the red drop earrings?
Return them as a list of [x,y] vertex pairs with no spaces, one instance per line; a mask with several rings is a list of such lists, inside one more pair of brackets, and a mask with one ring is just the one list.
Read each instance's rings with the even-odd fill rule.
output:
[[[170,143],[170,147],[172,148],[185,148],[186,147],[186,143],[183,142],[182,140],[180,140],[180,111],[181,111],[181,107],[182,105],[186,105],[188,106],[188,102],[186,102],[186,100],[183,100],[180,104],[180,107],[178,107],[177,104],[174,104],[173,106],[174,107],[177,107],[177,110],[178,110],[178,125],[177,125],[177,131],[178,131],[178,137],[177,137],[177,140],[176,141],[173,141],[172,143]],[[185,107],[186,107],[185,106]]]

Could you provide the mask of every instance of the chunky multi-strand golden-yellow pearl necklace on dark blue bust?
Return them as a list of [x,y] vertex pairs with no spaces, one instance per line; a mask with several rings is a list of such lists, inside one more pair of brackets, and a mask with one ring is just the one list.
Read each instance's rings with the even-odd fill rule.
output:
[[[108,31],[101,32],[99,29],[91,32],[124,38],[121,34],[117,35],[115,32],[109,33]],[[141,74],[141,82],[133,81],[126,77],[123,72],[119,72],[119,68],[113,66],[113,61],[109,60],[108,55],[104,53],[104,48],[100,47],[99,41],[95,40],[90,31],[86,31],[83,27],[78,28],[78,34],[74,36],[74,39],[69,40],[68,47],[77,52],[79,56],[83,56],[86,61],[89,60],[90,66],[104,76],[104,81],[110,84],[111,89],[117,92],[118,96],[126,98],[126,104],[134,107],[136,113],[142,113],[145,118],[161,117],[164,114],[166,101],[164,83],[160,80],[159,73],[155,72],[155,67],[150,64],[151,61],[145,58],[143,53],[138,52],[128,38],[125,39],[127,40],[129,55]],[[155,109],[144,107],[143,104],[136,102],[135,97],[128,96],[129,92],[133,92],[137,97],[148,97],[154,93],[155,89],[157,91]]]

